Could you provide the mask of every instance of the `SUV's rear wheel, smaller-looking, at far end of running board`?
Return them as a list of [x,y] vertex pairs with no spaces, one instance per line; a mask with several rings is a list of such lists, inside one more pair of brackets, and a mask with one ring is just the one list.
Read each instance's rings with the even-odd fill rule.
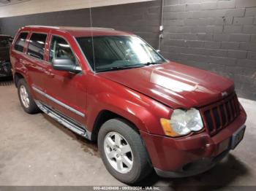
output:
[[[26,94],[27,101],[24,101],[24,94]],[[26,84],[25,79],[19,79],[18,81],[18,96],[20,99],[20,104],[25,112],[27,112],[28,114],[36,114],[40,112],[40,109],[37,107],[37,104],[34,102],[34,99],[32,98],[32,95],[29,91],[29,87]]]

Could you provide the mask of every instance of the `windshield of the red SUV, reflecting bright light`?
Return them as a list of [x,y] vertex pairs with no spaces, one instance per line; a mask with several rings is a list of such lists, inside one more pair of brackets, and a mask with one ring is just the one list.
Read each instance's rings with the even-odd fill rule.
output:
[[137,36],[94,36],[93,39],[79,37],[77,40],[95,71],[130,69],[165,62],[162,56]]

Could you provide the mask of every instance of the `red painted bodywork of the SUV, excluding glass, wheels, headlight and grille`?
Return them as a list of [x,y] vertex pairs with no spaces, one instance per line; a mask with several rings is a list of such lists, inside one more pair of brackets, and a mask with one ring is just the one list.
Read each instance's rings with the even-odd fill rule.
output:
[[[44,101],[60,112],[85,125],[93,131],[100,112],[108,110],[133,122],[140,130],[154,167],[163,171],[175,171],[186,163],[202,157],[212,157],[227,148],[230,136],[244,124],[246,114],[241,110],[230,125],[214,136],[207,130],[190,133],[176,139],[164,136],[160,118],[170,119],[173,109],[203,108],[222,99],[222,92],[234,92],[230,79],[208,71],[168,62],[154,66],[123,71],[94,74],[89,63],[75,42],[77,36],[133,35],[113,30],[89,28],[24,27],[29,31],[24,53],[10,50],[14,74],[21,74],[29,83],[68,106],[82,112],[86,117],[64,109],[31,89],[35,99]],[[26,55],[31,31],[48,34],[44,61]],[[15,39],[17,39],[16,35]],[[49,58],[51,35],[63,36],[75,52],[83,74],[75,75],[54,71]],[[15,40],[14,40],[15,42]]]

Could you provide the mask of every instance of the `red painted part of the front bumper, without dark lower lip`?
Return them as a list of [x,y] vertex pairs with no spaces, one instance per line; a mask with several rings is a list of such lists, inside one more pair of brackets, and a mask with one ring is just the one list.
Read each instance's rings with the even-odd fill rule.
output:
[[146,132],[140,132],[140,134],[146,142],[154,167],[164,171],[176,171],[184,164],[200,160],[202,157],[219,155],[227,149],[230,137],[238,128],[241,128],[245,121],[246,114],[241,112],[241,115],[233,123],[212,137],[206,132],[181,139],[172,139]]

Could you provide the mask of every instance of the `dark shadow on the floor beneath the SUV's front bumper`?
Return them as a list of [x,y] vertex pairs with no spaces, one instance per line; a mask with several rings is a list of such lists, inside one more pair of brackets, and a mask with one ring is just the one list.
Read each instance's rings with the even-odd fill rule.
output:
[[249,169],[232,154],[222,160],[210,171],[197,176],[177,179],[162,179],[157,174],[149,176],[139,184],[142,186],[154,185],[162,182],[170,190],[219,190],[236,181],[238,176],[249,174]]

